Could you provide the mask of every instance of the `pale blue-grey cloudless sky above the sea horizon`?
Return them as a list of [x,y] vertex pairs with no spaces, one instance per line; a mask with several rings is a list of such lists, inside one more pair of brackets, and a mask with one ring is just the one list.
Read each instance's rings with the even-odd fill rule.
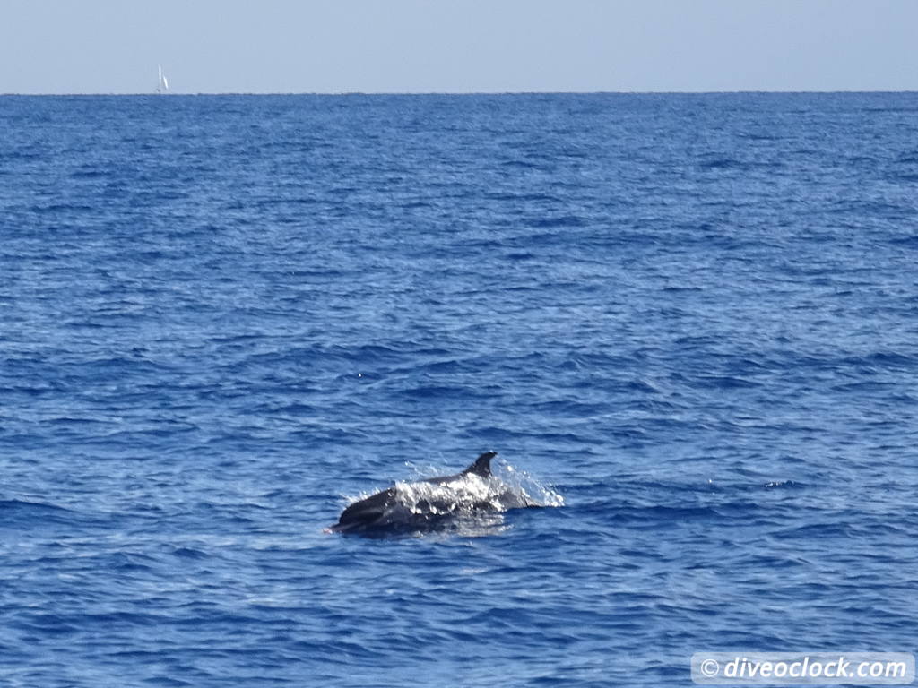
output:
[[0,93],[918,90],[918,0],[0,0]]

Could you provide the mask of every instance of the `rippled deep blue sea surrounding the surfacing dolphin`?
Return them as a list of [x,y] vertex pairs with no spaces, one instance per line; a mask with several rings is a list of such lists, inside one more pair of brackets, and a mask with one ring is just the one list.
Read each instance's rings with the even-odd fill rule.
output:
[[[918,94],[0,97],[0,683],[915,650]],[[355,538],[497,449],[563,505]]]

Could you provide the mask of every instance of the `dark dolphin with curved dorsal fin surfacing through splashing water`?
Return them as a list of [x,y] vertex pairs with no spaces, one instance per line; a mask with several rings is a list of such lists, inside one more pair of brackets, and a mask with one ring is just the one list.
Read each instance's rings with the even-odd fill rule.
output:
[[329,530],[336,533],[433,530],[455,517],[536,506],[527,494],[517,494],[497,478],[492,479],[491,460],[497,455],[497,451],[486,451],[465,471],[453,475],[418,483],[396,483],[348,506]]

